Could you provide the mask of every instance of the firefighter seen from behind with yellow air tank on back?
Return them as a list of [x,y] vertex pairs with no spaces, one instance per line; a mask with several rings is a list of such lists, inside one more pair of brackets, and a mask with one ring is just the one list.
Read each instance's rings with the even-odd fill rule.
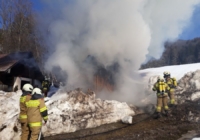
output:
[[157,112],[157,117],[161,117],[161,109],[164,107],[165,113],[168,116],[169,115],[169,108],[167,105],[168,98],[167,98],[167,91],[170,90],[170,87],[165,83],[164,78],[161,76],[157,77],[157,82],[154,84],[153,91],[157,92],[157,107],[156,107],[156,112]]

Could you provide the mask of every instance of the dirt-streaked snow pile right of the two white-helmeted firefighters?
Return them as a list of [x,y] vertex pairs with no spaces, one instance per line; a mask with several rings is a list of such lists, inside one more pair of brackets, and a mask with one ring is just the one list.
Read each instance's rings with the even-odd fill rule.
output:
[[67,96],[63,97],[67,98],[50,98],[46,102],[49,120],[42,128],[44,136],[93,128],[135,115],[126,103],[95,99],[95,93],[92,91],[85,94],[81,90],[75,90],[65,94]]

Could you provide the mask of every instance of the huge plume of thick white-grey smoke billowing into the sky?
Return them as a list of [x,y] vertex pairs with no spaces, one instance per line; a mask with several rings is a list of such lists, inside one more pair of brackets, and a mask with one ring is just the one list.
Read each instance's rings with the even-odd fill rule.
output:
[[158,58],[163,42],[178,37],[200,1],[43,2],[46,11],[40,26],[48,28],[48,45],[54,50],[46,68],[59,65],[68,74],[68,89],[84,88],[93,82],[94,74],[92,67],[83,65],[88,55],[105,67],[118,62],[117,91],[110,98],[136,101],[144,94],[134,72],[147,54]]

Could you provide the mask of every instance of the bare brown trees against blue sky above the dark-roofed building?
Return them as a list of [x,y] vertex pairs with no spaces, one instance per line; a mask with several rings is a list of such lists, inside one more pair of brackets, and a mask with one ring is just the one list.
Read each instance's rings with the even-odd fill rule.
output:
[[0,28],[1,52],[32,51],[41,60],[44,48],[30,0],[0,0]]

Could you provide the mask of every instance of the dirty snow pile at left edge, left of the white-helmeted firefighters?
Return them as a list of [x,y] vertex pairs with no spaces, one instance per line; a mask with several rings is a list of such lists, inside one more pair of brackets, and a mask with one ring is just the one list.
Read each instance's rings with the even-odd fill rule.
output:
[[22,92],[0,91],[0,140],[20,139],[19,99]]

